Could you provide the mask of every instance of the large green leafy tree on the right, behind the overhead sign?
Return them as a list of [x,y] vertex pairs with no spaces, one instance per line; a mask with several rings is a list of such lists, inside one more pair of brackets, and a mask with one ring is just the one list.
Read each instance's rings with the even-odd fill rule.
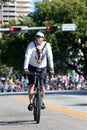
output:
[[[43,0],[36,3],[34,21],[38,25],[75,23],[75,32],[49,33],[53,43],[57,68],[69,67],[78,74],[87,76],[87,1],[86,0]],[[81,39],[81,42],[78,42]],[[57,40],[57,41],[56,41]],[[61,65],[62,64],[62,65]]]

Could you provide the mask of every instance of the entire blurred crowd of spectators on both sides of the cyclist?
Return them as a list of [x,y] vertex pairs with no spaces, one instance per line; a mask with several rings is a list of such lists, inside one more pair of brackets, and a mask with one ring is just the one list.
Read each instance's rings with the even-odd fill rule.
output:
[[[0,92],[28,91],[28,77],[20,72],[13,77],[0,77]],[[55,75],[52,80],[46,81],[46,90],[82,90],[87,89],[87,80],[82,75]]]

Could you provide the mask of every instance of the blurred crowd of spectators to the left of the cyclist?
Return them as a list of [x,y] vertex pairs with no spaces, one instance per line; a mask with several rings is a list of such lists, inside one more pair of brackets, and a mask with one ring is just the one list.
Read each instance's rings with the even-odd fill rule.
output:
[[0,77],[0,92],[23,92],[28,90],[28,77],[17,73],[15,77]]

